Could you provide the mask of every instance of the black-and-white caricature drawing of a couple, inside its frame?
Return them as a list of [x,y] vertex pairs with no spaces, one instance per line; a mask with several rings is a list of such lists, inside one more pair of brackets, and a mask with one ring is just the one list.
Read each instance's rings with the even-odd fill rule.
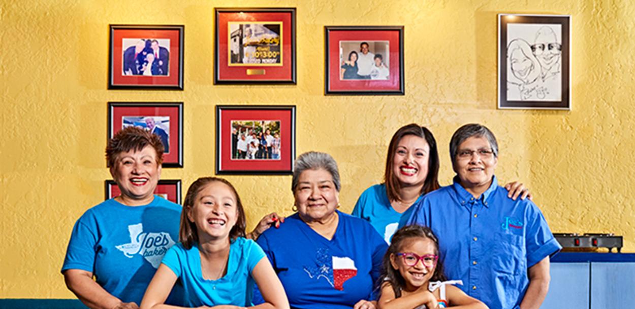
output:
[[507,100],[560,101],[561,25],[507,25]]

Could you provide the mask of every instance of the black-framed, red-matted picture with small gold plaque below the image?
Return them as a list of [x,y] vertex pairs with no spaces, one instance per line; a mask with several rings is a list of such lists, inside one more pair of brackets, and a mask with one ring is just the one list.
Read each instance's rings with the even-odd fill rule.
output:
[[217,8],[214,84],[296,84],[295,8]]

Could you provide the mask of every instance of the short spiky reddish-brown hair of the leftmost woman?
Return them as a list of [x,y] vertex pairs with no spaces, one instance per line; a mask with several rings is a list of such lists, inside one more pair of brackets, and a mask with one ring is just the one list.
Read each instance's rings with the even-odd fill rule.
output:
[[163,163],[163,143],[156,134],[150,133],[139,127],[127,127],[117,132],[108,141],[106,146],[106,162],[109,167],[115,166],[119,154],[130,150],[141,151],[145,146],[152,146],[157,153],[157,165]]

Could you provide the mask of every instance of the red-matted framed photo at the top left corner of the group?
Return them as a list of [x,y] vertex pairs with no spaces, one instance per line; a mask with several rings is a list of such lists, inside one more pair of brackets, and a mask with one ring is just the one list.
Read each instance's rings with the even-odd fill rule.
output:
[[183,90],[184,26],[110,25],[108,89]]

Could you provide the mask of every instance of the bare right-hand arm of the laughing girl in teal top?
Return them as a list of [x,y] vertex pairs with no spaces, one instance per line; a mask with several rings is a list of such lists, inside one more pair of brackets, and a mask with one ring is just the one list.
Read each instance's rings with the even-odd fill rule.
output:
[[289,300],[286,299],[284,287],[266,256],[260,259],[260,262],[251,270],[251,277],[258,284],[258,289],[265,300],[265,303],[251,308],[289,309]]

